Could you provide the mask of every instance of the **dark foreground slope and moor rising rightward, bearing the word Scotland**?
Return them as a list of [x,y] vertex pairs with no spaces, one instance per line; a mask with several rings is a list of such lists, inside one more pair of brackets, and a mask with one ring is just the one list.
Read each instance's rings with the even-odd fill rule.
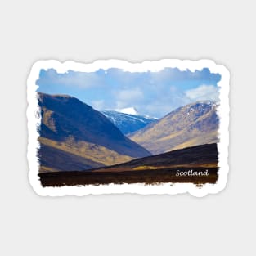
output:
[[189,182],[197,186],[214,184],[218,180],[218,147],[215,143],[193,146],[87,172],[40,173],[39,177],[43,186],[160,182]]

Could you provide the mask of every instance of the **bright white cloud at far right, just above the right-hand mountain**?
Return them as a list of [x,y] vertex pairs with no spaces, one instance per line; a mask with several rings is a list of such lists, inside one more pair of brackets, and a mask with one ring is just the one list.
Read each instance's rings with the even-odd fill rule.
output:
[[193,101],[219,101],[218,87],[213,85],[200,85],[198,88],[187,90],[185,94]]

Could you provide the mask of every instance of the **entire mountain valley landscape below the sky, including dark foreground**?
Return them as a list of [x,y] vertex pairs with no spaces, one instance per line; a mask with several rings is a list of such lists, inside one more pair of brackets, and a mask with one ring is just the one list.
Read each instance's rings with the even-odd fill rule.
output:
[[[67,95],[39,92],[38,104],[43,186],[205,184],[218,179],[213,101],[182,106],[160,119],[133,108],[101,113]],[[207,175],[183,175],[190,172]]]

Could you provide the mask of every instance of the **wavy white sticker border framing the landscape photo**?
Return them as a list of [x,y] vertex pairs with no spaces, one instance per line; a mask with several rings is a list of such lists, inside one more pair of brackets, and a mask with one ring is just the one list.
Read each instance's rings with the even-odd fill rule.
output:
[[[43,187],[38,177],[38,126],[41,124],[41,117],[38,115],[38,98],[36,81],[39,78],[40,70],[55,69],[58,73],[65,73],[68,70],[80,72],[94,72],[99,69],[107,70],[110,68],[119,68],[129,72],[158,72],[164,68],[177,68],[179,70],[202,70],[208,68],[211,73],[221,75],[218,82],[220,88],[220,106],[218,106],[218,115],[220,118],[218,142],[218,181],[215,184],[204,184],[201,187],[193,183],[163,183],[161,185],[145,184],[109,184],[109,185],[88,185],[88,186],[61,186],[61,187]],[[62,196],[62,195],[103,195],[103,194],[120,194],[136,193],[141,195],[176,195],[190,193],[197,197],[208,194],[216,194],[222,191],[227,184],[228,165],[228,145],[229,145],[229,83],[230,73],[224,65],[218,65],[211,60],[178,60],[163,59],[160,61],[143,61],[141,63],[130,63],[121,60],[98,60],[90,64],[83,64],[75,61],[47,60],[37,61],[32,66],[27,79],[27,119],[28,119],[28,150],[27,158],[29,163],[29,182],[38,195]]]

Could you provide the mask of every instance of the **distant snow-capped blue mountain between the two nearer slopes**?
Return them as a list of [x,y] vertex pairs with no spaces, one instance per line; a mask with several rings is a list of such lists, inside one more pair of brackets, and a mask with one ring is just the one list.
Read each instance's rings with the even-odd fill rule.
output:
[[[133,113],[133,114],[129,114]],[[139,115],[134,108],[126,108],[119,111],[102,111],[110,121],[124,134],[136,132],[146,127],[147,124],[156,122],[157,119]]]

